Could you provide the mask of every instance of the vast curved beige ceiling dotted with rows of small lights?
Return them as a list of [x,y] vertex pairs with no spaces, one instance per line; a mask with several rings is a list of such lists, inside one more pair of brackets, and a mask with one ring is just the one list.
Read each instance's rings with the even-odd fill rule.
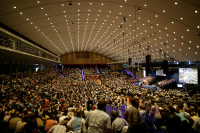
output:
[[200,61],[199,0],[1,0],[0,22],[57,55]]

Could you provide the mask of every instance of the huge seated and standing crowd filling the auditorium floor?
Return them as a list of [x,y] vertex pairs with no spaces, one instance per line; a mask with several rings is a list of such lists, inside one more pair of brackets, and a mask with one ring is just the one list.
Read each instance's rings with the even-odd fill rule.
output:
[[[10,83],[0,75],[0,132],[200,132],[198,93],[150,90],[116,71],[105,77],[82,80],[80,69],[61,69],[31,79],[19,72]],[[107,104],[118,110],[106,112]]]

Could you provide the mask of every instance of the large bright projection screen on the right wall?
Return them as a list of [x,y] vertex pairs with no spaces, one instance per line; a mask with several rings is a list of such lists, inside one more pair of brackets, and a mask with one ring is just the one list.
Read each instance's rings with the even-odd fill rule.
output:
[[198,69],[179,68],[179,83],[198,84]]

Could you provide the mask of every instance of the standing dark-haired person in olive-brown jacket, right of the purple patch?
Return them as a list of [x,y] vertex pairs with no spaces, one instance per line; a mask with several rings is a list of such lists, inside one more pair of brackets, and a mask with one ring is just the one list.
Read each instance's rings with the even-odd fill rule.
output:
[[143,126],[142,118],[138,110],[139,99],[132,98],[131,103],[132,107],[129,109],[129,114],[128,114],[128,123],[129,123],[128,133],[145,133],[146,128],[144,128]]

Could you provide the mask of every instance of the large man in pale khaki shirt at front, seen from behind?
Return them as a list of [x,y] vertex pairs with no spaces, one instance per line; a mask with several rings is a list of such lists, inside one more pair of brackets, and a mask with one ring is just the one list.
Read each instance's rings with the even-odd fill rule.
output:
[[98,102],[98,109],[91,111],[86,118],[86,127],[88,133],[103,133],[106,130],[111,130],[110,116],[105,113],[106,101]]

